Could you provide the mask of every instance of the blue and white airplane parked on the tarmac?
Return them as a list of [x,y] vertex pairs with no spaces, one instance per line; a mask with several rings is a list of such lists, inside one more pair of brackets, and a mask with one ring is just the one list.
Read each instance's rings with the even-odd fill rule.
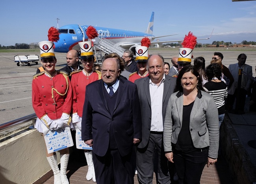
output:
[[[153,34],[153,26],[154,26],[154,12],[150,17],[150,21],[148,23],[148,28],[145,32],[137,32],[137,31],[128,31],[123,29],[113,29],[106,27],[97,27],[95,26],[96,31],[98,32],[99,37],[104,37],[114,44],[124,48],[130,49],[135,53],[135,47],[141,45],[141,39],[144,37],[148,37],[151,41],[151,44],[162,44],[168,42],[182,42],[183,40],[169,40],[169,41],[159,41],[158,39],[154,41],[156,38],[161,38],[165,36],[173,36],[173,35],[165,35],[165,36],[154,36]],[[70,24],[66,26],[62,26],[59,28],[59,41],[54,42],[55,44],[55,52],[67,53],[71,49],[79,50],[80,47],[78,42],[88,41],[88,36],[86,35],[87,25],[80,24]],[[175,34],[177,35],[177,34]],[[208,38],[200,38],[197,40],[207,40],[210,39],[211,35]]]

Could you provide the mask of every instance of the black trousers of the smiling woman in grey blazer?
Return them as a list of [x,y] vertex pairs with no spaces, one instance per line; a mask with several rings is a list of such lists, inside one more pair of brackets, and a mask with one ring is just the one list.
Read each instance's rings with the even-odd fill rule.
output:
[[[201,151],[202,150],[202,151]],[[202,171],[208,159],[208,148],[184,153],[173,149],[173,162],[179,184],[200,184]]]

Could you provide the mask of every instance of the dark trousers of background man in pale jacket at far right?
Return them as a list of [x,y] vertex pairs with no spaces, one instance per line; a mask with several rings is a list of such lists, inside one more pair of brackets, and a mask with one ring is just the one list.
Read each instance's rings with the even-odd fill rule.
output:
[[[242,111],[242,112],[244,111],[246,95],[247,95],[247,91],[244,88],[241,88],[240,95],[238,97],[238,111]],[[235,90],[233,95],[228,94],[228,99],[227,99],[228,110],[233,109],[233,105],[236,98],[237,98],[237,89]]]

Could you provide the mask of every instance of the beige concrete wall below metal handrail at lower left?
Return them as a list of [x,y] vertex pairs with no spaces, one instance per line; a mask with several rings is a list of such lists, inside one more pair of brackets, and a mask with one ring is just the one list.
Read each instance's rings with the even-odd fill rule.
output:
[[0,143],[0,183],[31,184],[49,173],[43,136],[26,129]]

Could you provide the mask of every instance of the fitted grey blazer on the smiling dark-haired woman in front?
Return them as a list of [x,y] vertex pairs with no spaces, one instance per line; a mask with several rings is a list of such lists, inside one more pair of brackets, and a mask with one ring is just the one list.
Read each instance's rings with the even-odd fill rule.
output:
[[[163,146],[172,151],[182,127],[183,93],[176,92],[169,99],[163,127]],[[209,146],[208,157],[217,158],[219,149],[219,116],[213,97],[198,90],[190,115],[190,134],[195,148]]]

